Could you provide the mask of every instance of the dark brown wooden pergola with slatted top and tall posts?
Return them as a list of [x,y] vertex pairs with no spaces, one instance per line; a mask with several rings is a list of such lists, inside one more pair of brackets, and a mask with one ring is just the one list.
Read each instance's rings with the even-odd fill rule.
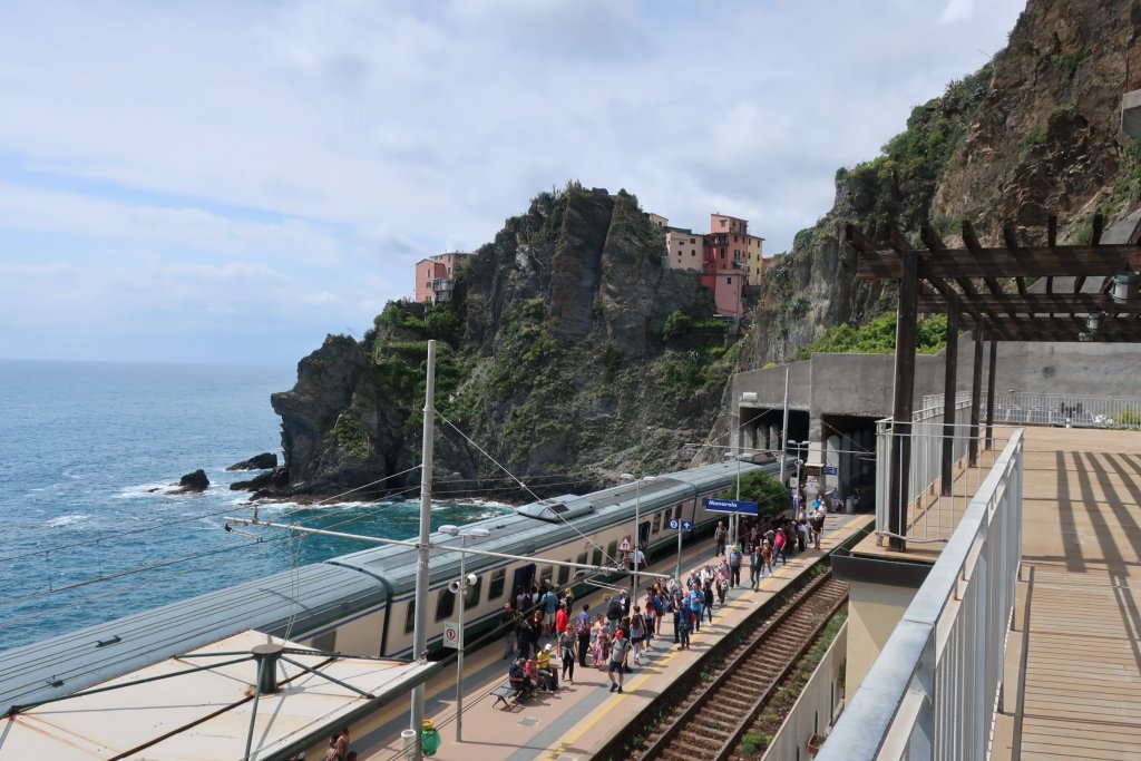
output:
[[[982,343],[990,341],[987,432],[993,438],[995,363],[998,341],[1091,341],[1141,342],[1141,305],[1136,297],[1114,298],[1120,277],[1141,270],[1141,217],[1132,226],[1118,226],[1119,240],[1102,240],[1103,220],[1092,220],[1086,245],[1058,245],[1058,219],[1050,217],[1045,245],[1025,245],[1013,222],[1004,222],[1003,246],[986,248],[974,227],[964,221],[962,249],[948,249],[938,232],[925,222],[921,238],[926,246],[915,249],[898,228],[891,228],[888,248],[877,246],[855,226],[847,240],[859,254],[857,280],[899,282],[899,313],[896,327],[896,386],[892,410],[889,502],[889,547],[906,549],[907,478],[911,467],[911,421],[915,392],[915,337],[920,314],[947,315],[947,365],[945,399],[954,399],[958,367],[958,333],[974,337],[970,463],[978,461],[979,399],[982,386]],[[1055,283],[1055,278],[1073,278]],[[1013,278],[1015,293],[1008,293],[1000,280]],[[1031,293],[1028,278],[1045,278],[1044,292]],[[1100,283],[1099,283],[1100,281]],[[1098,283],[1097,289],[1087,288]],[[1058,292],[1055,284],[1069,285]],[[1135,293],[1135,288],[1134,288]],[[944,408],[942,489],[949,494],[953,476],[952,442],[955,408]]]

